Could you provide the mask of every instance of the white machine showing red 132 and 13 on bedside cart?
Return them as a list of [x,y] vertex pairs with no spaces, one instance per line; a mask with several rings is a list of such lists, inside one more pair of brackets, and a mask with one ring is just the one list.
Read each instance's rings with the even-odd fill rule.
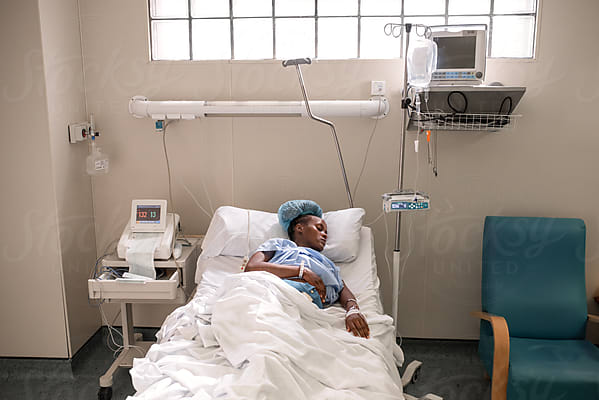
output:
[[[119,258],[127,258],[127,251],[136,243],[147,239],[148,233],[156,238],[154,258],[167,260],[175,248],[176,229],[179,226],[179,215],[167,213],[166,200],[133,200],[131,202],[131,217],[125,226],[119,243],[117,254]],[[175,249],[175,258],[180,253],[180,246]]]

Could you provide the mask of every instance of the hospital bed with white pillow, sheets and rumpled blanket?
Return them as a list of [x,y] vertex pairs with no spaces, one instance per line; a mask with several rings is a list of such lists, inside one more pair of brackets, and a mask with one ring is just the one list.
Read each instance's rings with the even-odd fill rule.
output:
[[402,393],[403,353],[383,313],[363,215],[325,213],[323,253],[356,295],[370,339],[345,330],[339,305],[321,310],[272,274],[243,273],[244,256],[286,235],[276,214],[221,207],[202,245],[195,295],[166,318],[146,356],[134,360],[135,398],[413,399]]

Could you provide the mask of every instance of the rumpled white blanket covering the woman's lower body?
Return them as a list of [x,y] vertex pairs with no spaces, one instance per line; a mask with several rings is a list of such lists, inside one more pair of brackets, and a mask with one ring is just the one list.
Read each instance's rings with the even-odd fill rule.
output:
[[403,399],[392,320],[361,305],[371,338],[345,330],[266,272],[205,287],[164,322],[131,376],[140,399]]

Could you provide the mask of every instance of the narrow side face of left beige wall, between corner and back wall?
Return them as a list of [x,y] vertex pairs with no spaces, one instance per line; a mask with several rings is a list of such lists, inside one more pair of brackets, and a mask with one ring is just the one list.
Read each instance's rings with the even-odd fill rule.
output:
[[69,123],[88,120],[77,0],[40,1],[40,22],[72,356],[100,325],[98,311],[87,301],[87,279],[96,260],[91,181],[85,172],[88,145],[67,138]]

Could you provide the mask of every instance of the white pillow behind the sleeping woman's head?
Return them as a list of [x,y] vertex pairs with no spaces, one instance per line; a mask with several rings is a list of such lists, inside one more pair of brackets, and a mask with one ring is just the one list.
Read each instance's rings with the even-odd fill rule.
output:
[[[360,228],[364,214],[361,208],[325,213],[323,219],[328,226],[328,239],[322,253],[333,262],[353,261],[359,250]],[[252,254],[258,246],[272,238],[287,238],[287,232],[284,232],[279,225],[276,213],[231,206],[219,207],[212,217],[202,242],[202,256],[243,257],[248,253]]]

